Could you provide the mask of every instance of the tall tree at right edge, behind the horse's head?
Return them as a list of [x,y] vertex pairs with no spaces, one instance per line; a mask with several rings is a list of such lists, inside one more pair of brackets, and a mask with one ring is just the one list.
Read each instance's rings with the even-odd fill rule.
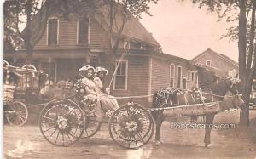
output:
[[[182,0],[183,1],[183,0]],[[241,125],[249,125],[249,99],[252,89],[253,76],[256,71],[255,49],[255,0],[193,0],[200,8],[207,7],[218,14],[219,20],[235,23],[223,37],[238,40],[239,77],[241,78],[241,92],[245,106],[240,116]],[[237,23],[238,22],[238,23]]]

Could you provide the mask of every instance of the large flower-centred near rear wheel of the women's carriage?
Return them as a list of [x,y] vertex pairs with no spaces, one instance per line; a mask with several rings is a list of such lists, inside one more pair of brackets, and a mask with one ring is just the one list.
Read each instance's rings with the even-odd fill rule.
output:
[[44,106],[39,127],[44,138],[53,145],[68,146],[84,133],[84,113],[70,99],[54,99]]

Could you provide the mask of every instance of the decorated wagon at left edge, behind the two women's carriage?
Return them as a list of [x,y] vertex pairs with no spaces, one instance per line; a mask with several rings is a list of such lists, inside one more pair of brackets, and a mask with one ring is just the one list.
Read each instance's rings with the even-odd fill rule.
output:
[[38,104],[40,80],[45,74],[33,65],[16,67],[7,61],[3,61],[3,74],[4,115],[10,125],[22,126],[28,118],[28,107]]

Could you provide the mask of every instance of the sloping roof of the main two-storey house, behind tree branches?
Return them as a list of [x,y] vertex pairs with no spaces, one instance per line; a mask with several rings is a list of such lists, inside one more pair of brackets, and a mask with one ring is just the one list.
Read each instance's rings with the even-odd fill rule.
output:
[[[100,22],[101,24],[104,22],[105,24],[107,24],[107,27],[110,26],[108,8],[106,6],[102,7],[99,10],[99,12],[100,13],[95,14],[94,16],[96,20],[98,20],[98,22]],[[122,24],[122,14],[116,14],[116,18],[113,21],[113,23],[113,31],[114,33],[117,33],[117,27],[119,28],[119,26],[121,26]],[[108,31],[106,25],[105,29],[107,29]],[[134,18],[133,16],[131,16],[131,19],[126,21],[122,35],[125,37],[131,37],[138,41],[160,47],[160,44],[154,39],[153,35],[150,32],[148,32],[147,29],[140,23],[140,21]]]

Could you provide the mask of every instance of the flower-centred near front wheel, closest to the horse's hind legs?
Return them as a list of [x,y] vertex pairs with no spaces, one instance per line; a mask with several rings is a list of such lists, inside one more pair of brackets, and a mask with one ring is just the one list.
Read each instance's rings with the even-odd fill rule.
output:
[[147,144],[152,138],[154,120],[140,105],[124,105],[113,112],[108,128],[110,137],[118,145],[137,149]]

